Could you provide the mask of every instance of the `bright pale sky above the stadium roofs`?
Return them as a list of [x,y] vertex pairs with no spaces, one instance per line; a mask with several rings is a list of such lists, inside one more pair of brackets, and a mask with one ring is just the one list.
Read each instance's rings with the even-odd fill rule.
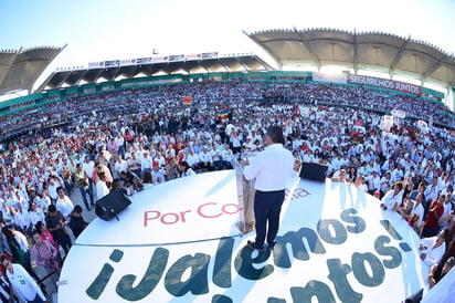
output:
[[455,0],[0,0],[0,50],[65,46],[57,67],[158,55],[262,50],[245,34],[329,28],[411,35],[455,53]]

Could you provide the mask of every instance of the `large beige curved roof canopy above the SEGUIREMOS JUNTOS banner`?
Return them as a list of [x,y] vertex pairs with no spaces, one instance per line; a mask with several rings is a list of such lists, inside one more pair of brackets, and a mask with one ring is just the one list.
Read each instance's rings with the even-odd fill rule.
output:
[[396,35],[331,30],[267,30],[246,33],[282,70],[286,65],[327,65],[414,76],[446,88],[455,85],[455,58],[423,41]]

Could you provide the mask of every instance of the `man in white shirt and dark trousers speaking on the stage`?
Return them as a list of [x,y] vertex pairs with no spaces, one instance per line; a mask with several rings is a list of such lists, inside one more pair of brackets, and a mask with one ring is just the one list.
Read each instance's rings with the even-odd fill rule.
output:
[[[248,241],[248,247],[264,251],[267,245],[275,247],[275,237],[279,229],[279,212],[285,198],[287,177],[293,174],[293,154],[283,147],[283,129],[271,126],[265,134],[265,149],[252,158],[245,159],[243,176],[246,180],[256,178],[254,195],[254,216],[256,221],[255,242]],[[268,230],[267,230],[268,223]]]

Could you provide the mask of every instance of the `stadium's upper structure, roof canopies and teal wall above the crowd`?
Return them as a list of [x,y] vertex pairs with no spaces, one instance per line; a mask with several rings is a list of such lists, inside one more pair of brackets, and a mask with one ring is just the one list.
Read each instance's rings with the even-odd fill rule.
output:
[[[0,116],[4,119],[10,114],[33,114],[44,111],[50,103],[87,94],[208,79],[242,79],[362,85],[385,94],[411,94],[442,104],[437,111],[449,117],[448,121],[454,117],[455,58],[432,44],[411,36],[329,29],[294,28],[245,34],[269,55],[267,60],[255,54],[213,52],[118,59],[89,62],[87,67],[60,67],[40,85],[36,79],[66,45],[2,51],[0,94],[19,90],[27,90],[29,94],[1,102]],[[372,72],[377,76],[371,76]],[[427,116],[420,118],[430,123]],[[8,133],[6,138],[9,138],[22,134],[24,128],[30,127],[7,127],[3,134]]]

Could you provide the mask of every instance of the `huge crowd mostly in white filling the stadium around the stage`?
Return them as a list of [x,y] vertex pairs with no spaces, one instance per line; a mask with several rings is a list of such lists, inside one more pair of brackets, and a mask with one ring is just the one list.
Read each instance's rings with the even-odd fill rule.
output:
[[[183,106],[187,95],[192,105]],[[296,164],[327,165],[327,177],[377,196],[383,211],[398,211],[415,229],[432,285],[445,274],[444,264],[454,263],[455,136],[422,128],[416,118],[387,126],[383,114],[392,109],[455,126],[448,108],[416,96],[250,82],[94,94],[3,118],[3,132],[55,116],[67,123],[18,138],[0,158],[2,263],[20,263],[38,279],[34,260],[56,281],[70,232],[77,237],[87,224],[83,207],[92,210],[112,189],[134,195],[146,184],[230,169],[242,153],[264,148],[268,126],[281,125]],[[84,206],[73,203],[74,195]],[[13,289],[23,296],[24,288]]]

